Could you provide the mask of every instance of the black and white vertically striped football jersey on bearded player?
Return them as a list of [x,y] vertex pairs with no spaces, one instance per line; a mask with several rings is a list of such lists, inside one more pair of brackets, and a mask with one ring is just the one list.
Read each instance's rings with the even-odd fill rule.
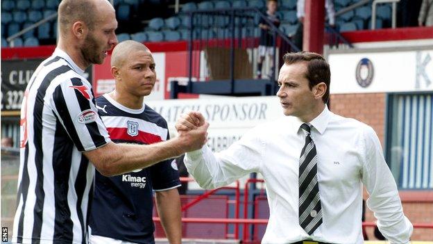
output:
[[56,49],[28,83],[13,243],[87,243],[94,167],[82,152],[110,138],[83,73]]

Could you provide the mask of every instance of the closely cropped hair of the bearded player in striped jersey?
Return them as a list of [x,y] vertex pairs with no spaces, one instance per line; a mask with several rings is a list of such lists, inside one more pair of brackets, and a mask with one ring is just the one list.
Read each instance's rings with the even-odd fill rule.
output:
[[60,34],[67,33],[71,24],[84,22],[89,29],[94,29],[96,6],[90,0],[62,0],[58,7],[58,28]]

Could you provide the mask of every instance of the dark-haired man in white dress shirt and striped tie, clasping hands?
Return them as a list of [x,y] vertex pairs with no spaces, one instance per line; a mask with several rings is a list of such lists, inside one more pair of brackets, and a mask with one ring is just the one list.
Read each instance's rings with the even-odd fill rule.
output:
[[[330,68],[322,56],[283,59],[277,96],[286,116],[255,127],[223,152],[204,146],[187,153],[189,173],[210,189],[260,172],[270,208],[262,243],[363,243],[363,185],[382,234],[409,243],[413,227],[375,131],[328,110]],[[189,112],[176,129],[185,133],[204,123],[203,115]]]

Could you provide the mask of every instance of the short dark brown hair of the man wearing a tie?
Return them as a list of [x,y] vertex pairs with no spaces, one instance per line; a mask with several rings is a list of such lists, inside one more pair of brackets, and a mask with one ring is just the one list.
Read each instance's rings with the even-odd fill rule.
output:
[[305,78],[309,81],[309,89],[323,82],[326,84],[326,92],[322,100],[326,104],[330,97],[331,71],[328,62],[320,54],[309,51],[300,51],[297,53],[287,53],[282,57],[285,64],[291,65],[294,63],[307,62],[307,72]]

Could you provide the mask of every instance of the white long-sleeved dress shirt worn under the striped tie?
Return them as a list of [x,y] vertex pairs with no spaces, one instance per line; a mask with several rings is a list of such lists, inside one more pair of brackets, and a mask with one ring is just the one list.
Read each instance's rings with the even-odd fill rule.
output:
[[188,172],[203,188],[226,186],[251,172],[266,182],[269,223],[262,243],[363,243],[362,184],[367,206],[391,243],[409,243],[411,222],[405,217],[396,182],[384,161],[380,142],[368,125],[335,115],[326,107],[312,124],[319,158],[317,171],[323,223],[309,236],[298,223],[298,172],[305,143],[303,124],[287,116],[255,127],[228,149],[213,154],[205,146],[187,153]]

